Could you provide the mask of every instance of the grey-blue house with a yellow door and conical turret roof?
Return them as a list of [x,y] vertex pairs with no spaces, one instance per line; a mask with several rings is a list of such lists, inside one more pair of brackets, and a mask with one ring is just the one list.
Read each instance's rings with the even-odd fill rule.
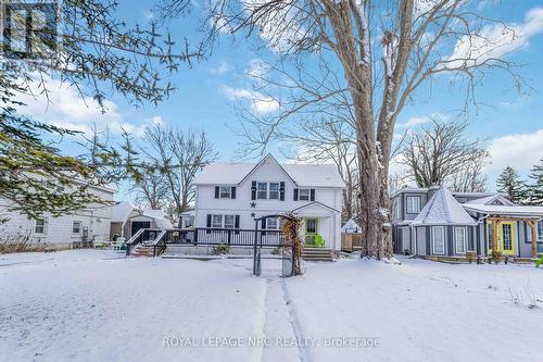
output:
[[444,187],[405,187],[391,198],[396,253],[490,255],[493,233],[504,255],[530,258],[543,251],[543,207],[516,205],[498,194],[451,192]]

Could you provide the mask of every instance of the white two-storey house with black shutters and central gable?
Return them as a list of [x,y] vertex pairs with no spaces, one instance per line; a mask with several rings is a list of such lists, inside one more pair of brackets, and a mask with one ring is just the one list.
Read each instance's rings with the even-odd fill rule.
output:
[[[195,179],[194,226],[254,229],[254,219],[293,213],[304,219],[304,240],[341,249],[344,183],[331,164],[279,164],[268,154],[258,163],[212,163]],[[277,217],[260,229],[279,229]],[[319,238],[317,237],[317,240]]]

